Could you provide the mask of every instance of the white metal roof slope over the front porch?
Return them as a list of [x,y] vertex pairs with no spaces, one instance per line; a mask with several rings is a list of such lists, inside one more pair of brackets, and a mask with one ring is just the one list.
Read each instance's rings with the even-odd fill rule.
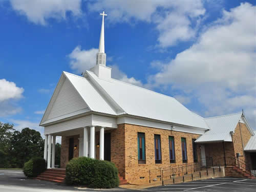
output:
[[74,88],[88,104],[91,111],[117,115],[115,109],[106,101],[95,89],[91,82],[84,77],[80,77],[68,72],[63,72],[73,84]]

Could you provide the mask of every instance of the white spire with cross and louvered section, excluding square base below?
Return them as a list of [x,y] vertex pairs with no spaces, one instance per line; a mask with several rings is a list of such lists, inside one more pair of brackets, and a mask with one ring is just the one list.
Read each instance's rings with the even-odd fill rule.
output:
[[105,45],[104,45],[104,16],[106,16],[105,12],[100,13],[102,15],[102,24],[101,24],[101,32],[99,39],[99,52],[96,57],[96,65],[106,65],[106,54],[105,54]]

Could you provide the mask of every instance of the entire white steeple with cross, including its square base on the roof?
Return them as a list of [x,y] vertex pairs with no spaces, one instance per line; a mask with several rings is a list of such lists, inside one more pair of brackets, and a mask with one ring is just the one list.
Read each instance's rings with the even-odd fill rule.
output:
[[111,78],[111,68],[106,67],[106,54],[104,45],[104,16],[105,12],[100,13],[102,15],[102,25],[99,39],[99,52],[96,56],[96,66],[94,66],[90,71],[94,72],[101,79]]

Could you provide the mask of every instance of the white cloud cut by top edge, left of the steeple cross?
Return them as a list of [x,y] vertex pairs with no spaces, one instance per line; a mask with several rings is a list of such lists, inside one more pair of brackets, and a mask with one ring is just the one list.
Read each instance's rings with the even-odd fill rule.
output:
[[9,0],[12,8],[30,22],[46,25],[47,19],[66,19],[67,12],[81,14],[81,0]]

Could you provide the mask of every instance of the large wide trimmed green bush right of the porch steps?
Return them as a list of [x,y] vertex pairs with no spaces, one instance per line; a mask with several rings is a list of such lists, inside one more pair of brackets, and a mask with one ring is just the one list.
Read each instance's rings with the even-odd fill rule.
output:
[[79,157],[66,167],[66,183],[91,188],[113,188],[119,185],[118,170],[114,163]]

